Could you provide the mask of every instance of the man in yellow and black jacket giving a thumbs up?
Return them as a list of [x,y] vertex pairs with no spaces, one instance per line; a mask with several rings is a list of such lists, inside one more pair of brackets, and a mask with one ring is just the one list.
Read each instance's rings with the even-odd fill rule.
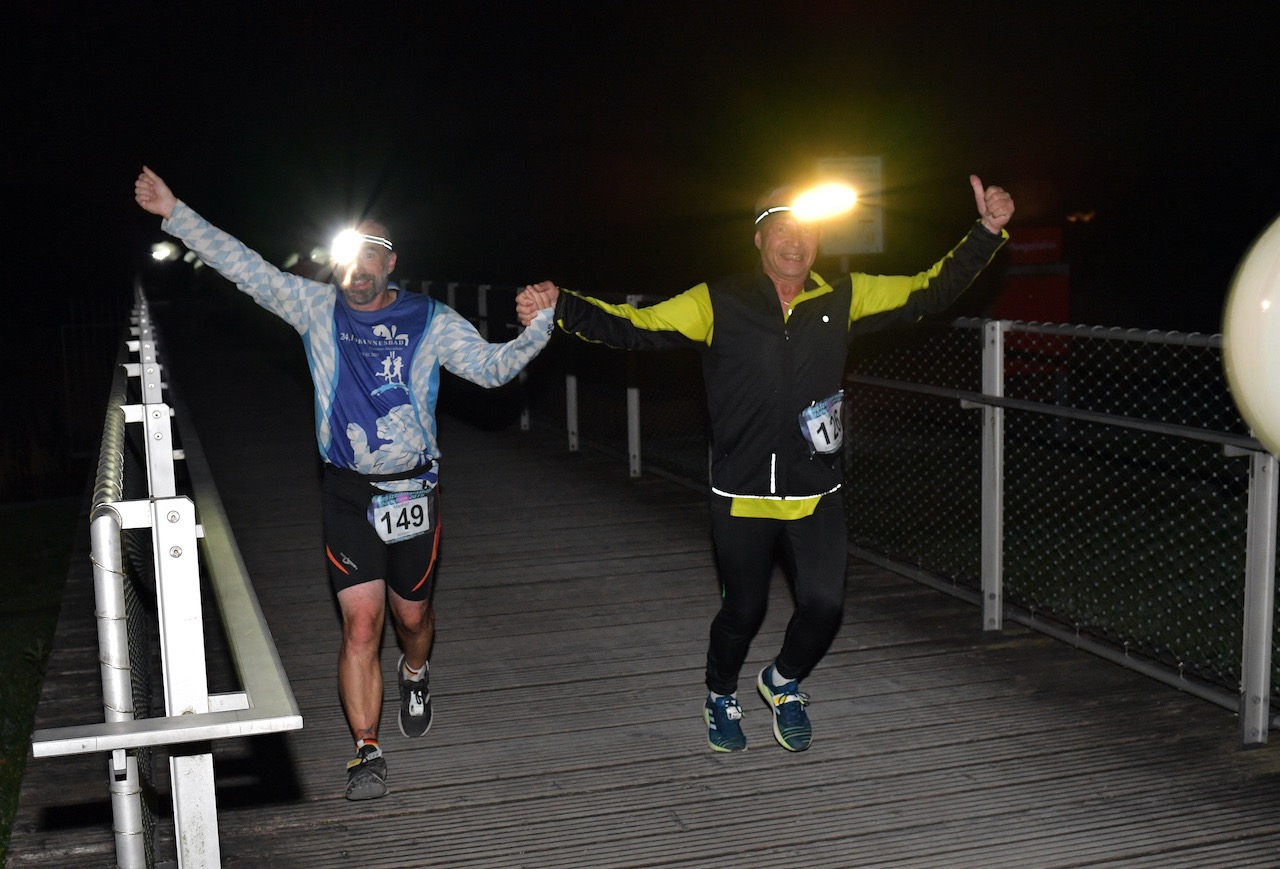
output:
[[756,687],[773,710],[774,738],[809,747],[799,682],[826,654],[844,612],[847,531],[840,402],[849,343],[890,324],[946,310],[1009,238],[1012,198],[970,177],[979,220],[954,250],[915,275],[813,271],[818,227],[792,214],[790,192],[762,200],[760,270],[710,280],[649,307],[609,305],[552,283],[526,288],[524,319],[549,303],[564,331],[626,349],[692,348],[703,361],[712,424],[712,536],[721,609],[707,655],[708,742],[746,747],[739,672],[768,603],[780,561],[796,609]]

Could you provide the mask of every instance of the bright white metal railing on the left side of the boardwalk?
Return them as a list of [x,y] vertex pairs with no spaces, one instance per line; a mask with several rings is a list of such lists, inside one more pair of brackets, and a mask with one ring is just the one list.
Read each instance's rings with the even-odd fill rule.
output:
[[[136,339],[122,347],[108,402],[90,513],[105,721],[38,729],[32,754],[110,754],[116,861],[133,869],[155,863],[143,799],[145,788],[155,790],[151,751],[184,746],[169,751],[178,865],[218,866],[209,742],[298,729],[302,717],[189,426],[177,447],[173,419],[188,417],[164,401],[157,335],[141,291],[133,321]],[[131,355],[137,361],[127,361]],[[179,477],[189,493],[179,493]],[[209,691],[201,561],[241,691]],[[155,669],[164,704],[152,717]]]

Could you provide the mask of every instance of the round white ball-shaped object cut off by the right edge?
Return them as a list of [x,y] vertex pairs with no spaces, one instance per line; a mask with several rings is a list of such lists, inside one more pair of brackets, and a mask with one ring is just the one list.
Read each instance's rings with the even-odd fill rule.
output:
[[1222,365],[1253,436],[1280,456],[1280,218],[1253,242],[1231,279]]

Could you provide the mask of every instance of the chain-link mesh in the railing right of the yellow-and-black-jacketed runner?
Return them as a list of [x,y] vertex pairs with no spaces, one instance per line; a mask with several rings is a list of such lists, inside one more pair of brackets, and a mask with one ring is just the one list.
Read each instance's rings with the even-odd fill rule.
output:
[[[982,325],[858,348],[846,430],[850,540],[975,591],[982,419],[908,384],[979,392]],[[1239,690],[1248,429],[1221,338],[1012,324],[1004,395],[1027,404],[1005,416],[1006,607]]]

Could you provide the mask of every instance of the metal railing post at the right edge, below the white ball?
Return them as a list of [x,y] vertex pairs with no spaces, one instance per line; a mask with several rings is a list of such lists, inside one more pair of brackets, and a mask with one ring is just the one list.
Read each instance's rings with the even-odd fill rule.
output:
[[1240,662],[1240,742],[1258,746],[1271,729],[1271,637],[1275,623],[1276,457],[1249,457],[1249,518],[1244,558],[1244,640]]

